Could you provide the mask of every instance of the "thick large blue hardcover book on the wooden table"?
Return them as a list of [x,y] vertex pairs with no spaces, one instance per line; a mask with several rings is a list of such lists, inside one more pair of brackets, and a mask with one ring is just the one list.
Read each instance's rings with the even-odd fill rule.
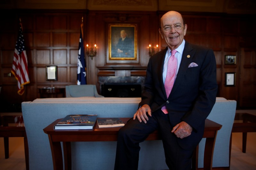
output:
[[92,130],[97,115],[67,115],[54,126],[54,130]]

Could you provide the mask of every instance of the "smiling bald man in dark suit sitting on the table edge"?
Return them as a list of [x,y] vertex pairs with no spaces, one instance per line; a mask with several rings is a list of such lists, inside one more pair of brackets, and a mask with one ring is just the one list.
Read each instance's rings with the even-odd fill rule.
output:
[[159,33],[168,46],[149,59],[139,108],[118,133],[115,169],[138,169],[139,143],[157,129],[167,166],[191,170],[218,86],[213,51],[189,44],[186,32],[180,13],[169,11],[161,18]]

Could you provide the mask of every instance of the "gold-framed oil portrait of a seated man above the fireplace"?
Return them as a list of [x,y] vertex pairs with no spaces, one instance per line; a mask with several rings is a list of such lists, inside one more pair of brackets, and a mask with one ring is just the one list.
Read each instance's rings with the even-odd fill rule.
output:
[[137,60],[137,25],[109,24],[109,60]]

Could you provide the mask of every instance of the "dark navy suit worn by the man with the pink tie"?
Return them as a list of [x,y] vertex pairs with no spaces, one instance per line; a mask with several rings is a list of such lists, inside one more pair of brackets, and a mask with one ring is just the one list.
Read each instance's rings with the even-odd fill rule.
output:
[[[185,159],[191,158],[191,151],[201,141],[204,133],[204,121],[216,100],[218,89],[216,60],[212,49],[192,45],[186,41],[180,68],[167,99],[163,82],[166,51],[167,48],[149,59],[145,88],[139,104],[139,107],[148,104],[152,111],[152,117],[148,116],[149,121],[146,124],[140,123],[137,119],[130,120],[120,129],[116,169],[121,169],[121,165],[118,165],[117,162],[123,162],[123,165],[129,166],[127,169],[137,169],[139,143],[156,129],[161,132],[163,138],[168,167],[170,169],[189,169],[190,164],[191,168],[191,162],[189,162],[191,160],[186,161]],[[194,67],[189,67],[191,63]],[[161,111],[161,107],[164,105],[168,110],[166,115]],[[190,136],[180,139],[170,131],[182,121],[187,122],[193,130]],[[122,157],[120,151],[125,152],[127,156]],[[130,162],[128,164],[124,161],[127,159]],[[125,168],[122,167],[122,169]]]

